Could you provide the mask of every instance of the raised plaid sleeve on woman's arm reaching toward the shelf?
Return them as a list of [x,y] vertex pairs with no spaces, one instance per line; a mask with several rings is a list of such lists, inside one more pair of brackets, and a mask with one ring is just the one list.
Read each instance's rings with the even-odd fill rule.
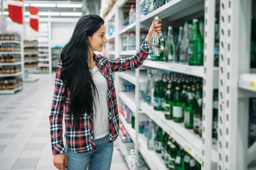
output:
[[112,72],[123,72],[139,68],[148,57],[149,43],[145,40],[133,57],[108,58]]

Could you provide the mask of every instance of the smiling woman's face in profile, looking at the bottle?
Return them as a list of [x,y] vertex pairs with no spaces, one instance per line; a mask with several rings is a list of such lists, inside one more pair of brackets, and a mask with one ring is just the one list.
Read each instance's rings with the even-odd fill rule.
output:
[[102,52],[102,48],[106,42],[108,42],[108,40],[105,37],[105,27],[104,25],[101,25],[93,36],[89,37],[91,51]]

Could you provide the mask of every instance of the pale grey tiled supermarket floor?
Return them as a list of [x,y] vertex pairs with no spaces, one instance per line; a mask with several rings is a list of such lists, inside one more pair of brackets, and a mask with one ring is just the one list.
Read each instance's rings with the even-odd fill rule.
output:
[[[49,130],[55,77],[39,76],[15,95],[0,95],[0,170],[56,170]],[[128,167],[115,147],[111,170],[120,169]]]

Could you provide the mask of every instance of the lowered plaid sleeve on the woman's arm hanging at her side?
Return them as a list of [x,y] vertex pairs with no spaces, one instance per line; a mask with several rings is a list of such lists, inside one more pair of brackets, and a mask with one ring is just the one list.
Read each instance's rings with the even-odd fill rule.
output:
[[61,154],[65,152],[63,140],[62,140],[62,120],[64,113],[64,101],[65,95],[64,90],[65,86],[61,80],[61,71],[62,71],[62,61],[59,61],[56,78],[55,78],[55,89],[52,100],[52,108],[50,112],[50,135],[51,135],[51,144],[52,144],[52,154]]

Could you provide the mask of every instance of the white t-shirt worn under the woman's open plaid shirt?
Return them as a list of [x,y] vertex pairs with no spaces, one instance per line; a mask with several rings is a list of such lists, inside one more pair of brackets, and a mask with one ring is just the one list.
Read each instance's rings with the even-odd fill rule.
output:
[[93,68],[93,81],[97,88],[93,104],[93,131],[94,139],[101,139],[109,134],[108,124],[108,84],[97,66]]

